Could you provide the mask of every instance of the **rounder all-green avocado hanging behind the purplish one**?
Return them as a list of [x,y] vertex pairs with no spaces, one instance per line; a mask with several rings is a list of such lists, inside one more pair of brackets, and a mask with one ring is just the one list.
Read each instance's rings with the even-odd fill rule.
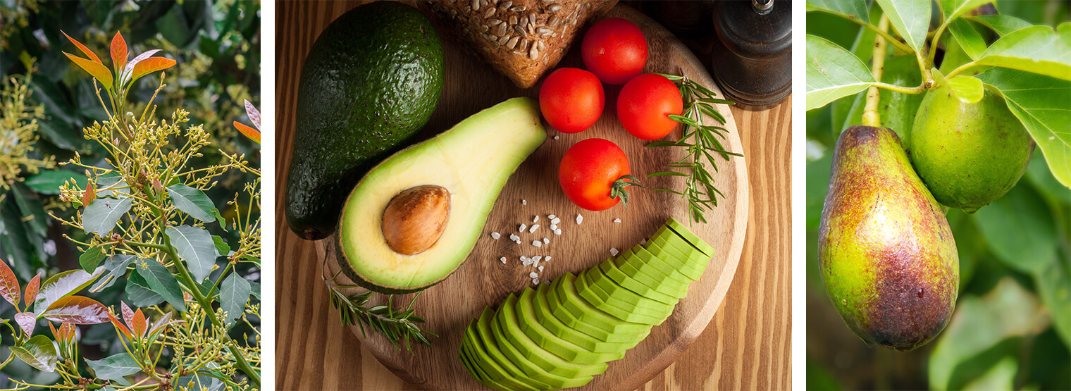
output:
[[1000,95],[964,103],[948,86],[926,92],[915,117],[911,163],[941,205],[974,213],[1026,172],[1034,139]]

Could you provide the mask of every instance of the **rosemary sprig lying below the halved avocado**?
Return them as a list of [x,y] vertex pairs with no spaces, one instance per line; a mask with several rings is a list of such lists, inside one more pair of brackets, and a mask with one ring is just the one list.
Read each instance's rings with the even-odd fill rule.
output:
[[[325,264],[327,262],[327,257],[325,257]],[[326,266],[326,265],[325,265]],[[323,269],[327,270],[326,268]],[[387,305],[376,305],[368,307],[368,300],[372,298],[373,291],[368,290],[365,292],[357,295],[346,295],[342,291],[345,288],[358,288],[358,285],[338,285],[334,283],[334,280],[338,277],[342,271],[335,273],[334,276],[328,279],[327,275],[322,275],[323,284],[328,286],[330,290],[331,306],[338,310],[340,318],[342,319],[343,327],[350,327],[358,325],[361,328],[361,336],[367,337],[364,331],[365,327],[371,328],[387,337],[394,347],[402,350],[402,346],[398,345],[398,340],[404,342],[406,350],[409,354],[413,354],[412,346],[410,345],[410,340],[416,340],[424,345],[432,346],[432,343],[427,341],[424,334],[432,336],[439,336],[431,331],[420,328],[424,319],[417,316],[417,310],[412,309],[412,304],[417,302],[417,298],[420,297],[420,292],[417,292],[409,301],[409,305],[406,306],[405,311],[394,309],[394,295],[387,297]]]

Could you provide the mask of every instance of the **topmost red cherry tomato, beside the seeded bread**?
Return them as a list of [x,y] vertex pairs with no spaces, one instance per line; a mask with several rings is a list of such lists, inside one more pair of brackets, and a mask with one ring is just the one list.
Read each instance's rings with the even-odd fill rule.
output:
[[647,39],[633,22],[612,17],[591,26],[580,44],[584,66],[607,85],[623,85],[644,71]]

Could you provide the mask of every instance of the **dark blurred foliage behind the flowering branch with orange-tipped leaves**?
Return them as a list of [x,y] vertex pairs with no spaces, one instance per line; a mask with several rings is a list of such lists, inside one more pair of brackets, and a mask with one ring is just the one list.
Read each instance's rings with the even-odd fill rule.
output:
[[[260,148],[242,136],[231,124],[252,124],[245,115],[244,101],[260,106],[260,3],[246,0],[220,1],[145,1],[86,0],[37,1],[0,0],[0,79],[4,84],[14,75],[33,72],[30,100],[44,106],[44,116],[36,119],[40,139],[30,157],[65,162],[78,151],[82,162],[105,166],[103,149],[82,138],[81,130],[93,121],[107,119],[94,92],[92,78],[63,56],[63,51],[82,56],[60,31],[93,50],[107,66],[111,66],[108,44],[121,31],[131,58],[148,49],[162,49],[156,56],[172,58],[178,64],[166,70],[167,87],[156,96],[157,119],[170,119],[183,108],[190,111],[188,125],[203,124],[212,134],[211,146],[202,149],[203,156],[191,161],[206,166],[224,161],[220,151],[243,153],[253,167],[260,166]],[[129,111],[140,112],[160,85],[160,74],[144,77],[127,96]],[[104,97],[107,99],[106,96]],[[3,130],[0,130],[3,131]],[[182,140],[177,140],[182,142]],[[0,149],[0,159],[3,149]],[[77,269],[78,251],[63,238],[70,235],[85,238],[79,229],[67,229],[47,216],[47,212],[70,216],[75,211],[57,198],[58,183],[66,178],[81,178],[81,171],[57,166],[44,175],[21,174],[24,182],[13,182],[0,189],[0,257],[11,265],[25,284],[34,274],[50,275],[56,271]],[[47,177],[47,178],[46,178]],[[56,178],[61,178],[59,182]],[[225,217],[235,208],[248,207],[248,196],[228,205],[236,193],[256,177],[232,170],[220,178],[220,183],[207,192]],[[259,219],[258,206],[254,206]],[[214,229],[209,227],[210,230]],[[238,230],[213,235],[230,235],[228,242],[238,242]],[[254,281],[259,296],[259,272],[245,270],[241,274]],[[216,273],[220,271],[217,270]],[[212,277],[215,280],[215,276]],[[125,299],[123,286],[114,284],[96,294],[88,294],[105,305],[118,305]],[[130,299],[125,299],[131,302]],[[14,309],[0,302],[0,318],[11,319]],[[259,319],[251,319],[259,325]],[[248,330],[235,328],[232,336]],[[44,329],[39,328],[39,333]],[[11,344],[3,334],[2,345]],[[81,350],[87,359],[100,359],[123,349],[115,343],[116,333],[109,324],[79,327]],[[3,348],[6,350],[6,348]],[[0,355],[6,357],[5,351]],[[0,389],[11,387],[7,377],[49,384],[56,375],[33,371],[16,362],[0,373]]]

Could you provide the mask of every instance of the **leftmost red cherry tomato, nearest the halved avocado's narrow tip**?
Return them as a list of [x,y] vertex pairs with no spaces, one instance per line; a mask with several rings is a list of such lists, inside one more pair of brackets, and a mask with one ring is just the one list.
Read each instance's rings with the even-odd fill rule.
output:
[[539,109],[550,126],[562,133],[578,133],[599,121],[606,96],[591,72],[560,67],[543,80]]

